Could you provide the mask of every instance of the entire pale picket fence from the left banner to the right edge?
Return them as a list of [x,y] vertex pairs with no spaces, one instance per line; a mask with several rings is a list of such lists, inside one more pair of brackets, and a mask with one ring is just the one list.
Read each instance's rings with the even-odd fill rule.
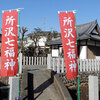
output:
[[[100,71],[100,59],[80,59],[77,62],[80,72]],[[64,73],[66,70],[64,58],[52,58],[50,54],[48,57],[23,57],[22,65],[45,65],[47,69],[57,73]]]

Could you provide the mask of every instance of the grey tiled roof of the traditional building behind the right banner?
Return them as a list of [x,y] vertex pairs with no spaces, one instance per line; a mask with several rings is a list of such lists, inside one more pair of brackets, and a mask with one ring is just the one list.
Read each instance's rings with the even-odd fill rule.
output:
[[[77,25],[77,40],[92,39],[92,40],[100,41],[100,35],[99,35],[100,33],[97,32],[97,29],[96,29],[97,27],[99,29],[97,20],[90,23]],[[56,45],[56,44],[59,44],[59,45],[62,44],[61,38],[51,40],[48,43],[48,45]]]

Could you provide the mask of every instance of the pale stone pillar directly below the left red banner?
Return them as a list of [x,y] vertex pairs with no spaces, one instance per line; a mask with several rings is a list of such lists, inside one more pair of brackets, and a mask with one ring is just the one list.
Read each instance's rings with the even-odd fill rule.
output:
[[9,100],[15,100],[15,98],[18,97],[19,78],[9,77],[9,85]]

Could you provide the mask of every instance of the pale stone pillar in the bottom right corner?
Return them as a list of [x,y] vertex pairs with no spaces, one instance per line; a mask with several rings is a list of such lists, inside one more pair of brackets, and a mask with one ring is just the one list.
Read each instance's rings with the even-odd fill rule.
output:
[[89,76],[89,100],[99,100],[98,76]]

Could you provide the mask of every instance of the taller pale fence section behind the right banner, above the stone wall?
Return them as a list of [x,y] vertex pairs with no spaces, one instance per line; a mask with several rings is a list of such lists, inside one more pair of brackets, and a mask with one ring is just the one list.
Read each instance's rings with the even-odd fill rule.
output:
[[[57,73],[65,72],[64,58],[52,58],[48,56],[48,69],[52,69]],[[100,71],[100,59],[80,59],[77,61],[80,72]]]

